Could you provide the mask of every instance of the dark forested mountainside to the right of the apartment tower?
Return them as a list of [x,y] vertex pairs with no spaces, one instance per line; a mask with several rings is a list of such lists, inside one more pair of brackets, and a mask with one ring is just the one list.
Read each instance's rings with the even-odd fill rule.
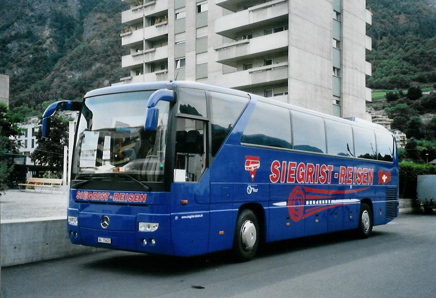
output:
[[372,12],[373,89],[408,88],[436,82],[436,0],[366,0]]

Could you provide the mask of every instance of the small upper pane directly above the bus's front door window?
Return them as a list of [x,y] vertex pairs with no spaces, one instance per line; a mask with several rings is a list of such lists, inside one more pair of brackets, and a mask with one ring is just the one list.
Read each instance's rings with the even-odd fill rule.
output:
[[179,88],[177,90],[179,113],[207,117],[204,90]]

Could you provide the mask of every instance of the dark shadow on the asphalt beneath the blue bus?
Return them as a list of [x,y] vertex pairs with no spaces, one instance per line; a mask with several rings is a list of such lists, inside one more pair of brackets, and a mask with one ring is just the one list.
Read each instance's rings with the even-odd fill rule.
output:
[[[391,234],[395,233],[374,231],[370,239],[386,237]],[[357,238],[353,231],[344,231],[268,243],[263,246],[263,249],[258,252],[256,258],[251,262],[255,262],[256,259],[262,260],[268,257],[293,254],[307,249],[323,246],[328,247],[341,243],[352,243],[354,241],[362,240]],[[216,268],[237,264],[231,251],[216,252],[195,257],[120,253],[123,255],[102,255],[98,260],[85,263],[83,266],[93,270],[110,270],[138,275],[152,274],[155,276],[169,276],[199,272],[212,267]]]

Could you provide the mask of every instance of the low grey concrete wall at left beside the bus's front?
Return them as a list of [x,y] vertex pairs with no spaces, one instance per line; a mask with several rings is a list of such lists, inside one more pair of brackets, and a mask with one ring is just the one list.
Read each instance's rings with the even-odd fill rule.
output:
[[66,220],[66,217],[2,220],[0,266],[96,252],[96,248],[70,243]]

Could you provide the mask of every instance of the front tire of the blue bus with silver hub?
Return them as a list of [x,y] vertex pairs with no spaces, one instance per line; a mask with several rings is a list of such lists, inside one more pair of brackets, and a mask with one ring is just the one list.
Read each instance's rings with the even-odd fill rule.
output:
[[246,262],[254,258],[260,239],[259,223],[250,209],[242,210],[236,220],[233,238],[233,254],[237,261]]

